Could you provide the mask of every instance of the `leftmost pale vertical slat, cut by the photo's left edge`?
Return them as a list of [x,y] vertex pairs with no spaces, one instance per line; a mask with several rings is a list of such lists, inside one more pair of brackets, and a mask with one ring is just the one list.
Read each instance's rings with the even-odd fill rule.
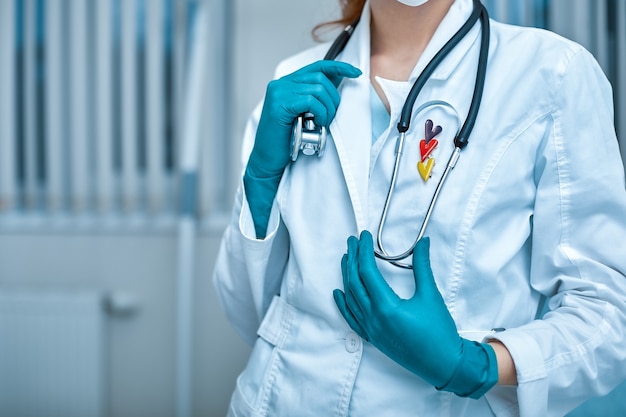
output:
[[0,1],[0,212],[15,207],[15,3]]

